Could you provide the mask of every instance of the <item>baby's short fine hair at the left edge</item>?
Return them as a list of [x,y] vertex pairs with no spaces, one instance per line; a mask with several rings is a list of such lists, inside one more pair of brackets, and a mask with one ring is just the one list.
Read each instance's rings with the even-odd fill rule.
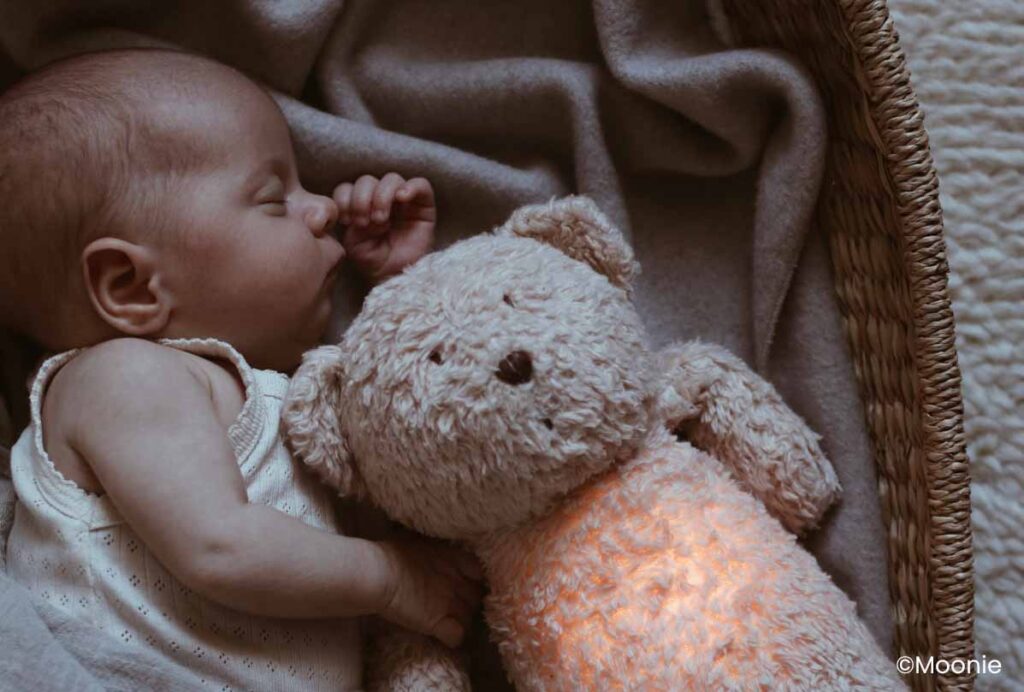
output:
[[74,309],[85,246],[160,232],[157,202],[204,153],[146,106],[201,97],[195,77],[210,71],[234,72],[178,51],[102,51],[0,94],[0,326],[55,346],[43,322]]

